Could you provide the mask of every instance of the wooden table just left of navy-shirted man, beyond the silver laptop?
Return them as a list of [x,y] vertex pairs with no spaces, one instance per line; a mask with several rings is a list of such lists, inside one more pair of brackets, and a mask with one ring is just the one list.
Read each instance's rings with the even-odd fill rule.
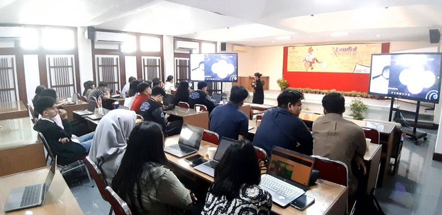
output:
[[182,119],[182,123],[195,125],[209,130],[209,112],[196,112],[192,108],[175,106],[172,110],[165,110],[167,114]]

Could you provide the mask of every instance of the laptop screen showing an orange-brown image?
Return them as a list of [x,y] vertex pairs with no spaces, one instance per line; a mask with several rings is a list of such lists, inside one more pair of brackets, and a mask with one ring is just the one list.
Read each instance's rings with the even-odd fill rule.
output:
[[298,152],[273,147],[267,174],[281,176],[305,187],[309,186],[314,158]]

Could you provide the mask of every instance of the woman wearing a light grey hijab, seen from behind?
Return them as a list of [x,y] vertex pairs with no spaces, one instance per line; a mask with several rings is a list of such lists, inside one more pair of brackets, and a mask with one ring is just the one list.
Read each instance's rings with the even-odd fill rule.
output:
[[122,161],[126,151],[126,140],[135,126],[136,119],[135,112],[117,109],[104,115],[95,129],[89,157],[102,168],[109,185]]

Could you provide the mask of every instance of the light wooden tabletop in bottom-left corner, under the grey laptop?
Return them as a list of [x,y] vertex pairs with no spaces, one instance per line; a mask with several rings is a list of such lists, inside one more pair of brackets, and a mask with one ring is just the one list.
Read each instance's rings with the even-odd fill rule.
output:
[[[46,176],[48,176],[48,171],[49,168],[44,167],[37,170],[30,170],[28,172],[21,172],[19,174],[0,177],[0,214],[5,214],[5,202],[12,188],[43,183]],[[77,215],[84,213],[79,207],[72,192],[70,192],[68,185],[66,185],[63,176],[61,176],[59,171],[56,171],[43,205],[40,207],[32,207],[10,212],[8,214]]]

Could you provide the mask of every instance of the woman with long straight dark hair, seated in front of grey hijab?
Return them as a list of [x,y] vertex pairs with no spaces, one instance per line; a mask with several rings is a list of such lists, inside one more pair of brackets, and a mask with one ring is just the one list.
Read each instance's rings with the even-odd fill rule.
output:
[[[154,88],[155,89],[155,88]],[[161,125],[136,125],[112,181],[113,190],[128,203],[133,214],[184,214],[193,194],[166,167]]]

